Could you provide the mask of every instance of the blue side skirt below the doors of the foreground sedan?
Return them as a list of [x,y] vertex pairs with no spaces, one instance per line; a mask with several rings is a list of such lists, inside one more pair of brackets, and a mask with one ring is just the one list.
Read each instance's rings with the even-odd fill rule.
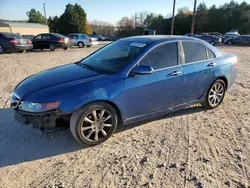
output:
[[141,114],[141,115],[138,115],[138,116],[135,116],[135,117],[131,117],[131,118],[123,120],[123,125],[126,126],[126,125],[133,124],[133,123],[136,123],[136,122],[139,122],[139,121],[144,121],[144,120],[151,119],[151,118],[154,118],[154,117],[158,117],[158,116],[161,116],[161,115],[166,115],[166,114],[181,110],[181,109],[183,109],[185,107],[188,107],[190,105],[201,103],[202,101],[203,101],[202,99],[194,100],[194,101],[191,101],[191,102],[188,102],[188,103],[179,104],[179,105],[174,106],[174,107],[164,108],[164,109],[157,110],[157,111],[154,111],[154,112],[150,112],[150,113],[147,113],[147,114]]

